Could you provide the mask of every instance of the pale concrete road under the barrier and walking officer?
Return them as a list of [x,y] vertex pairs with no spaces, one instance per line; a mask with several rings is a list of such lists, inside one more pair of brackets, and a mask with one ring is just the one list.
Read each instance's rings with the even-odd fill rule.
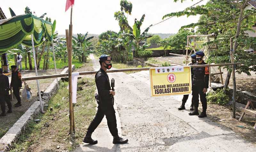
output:
[[[93,56],[91,56],[93,59]],[[93,60],[95,68],[98,60]],[[115,103],[119,113],[119,134],[127,144],[112,144],[106,118],[92,137],[98,144],[82,144],[76,151],[256,151],[236,133],[209,118],[189,116],[187,109],[178,111],[182,96],[151,97],[148,71],[125,74],[109,73],[115,79]],[[117,113],[117,114],[118,114]],[[121,133],[122,129],[122,133]]]

